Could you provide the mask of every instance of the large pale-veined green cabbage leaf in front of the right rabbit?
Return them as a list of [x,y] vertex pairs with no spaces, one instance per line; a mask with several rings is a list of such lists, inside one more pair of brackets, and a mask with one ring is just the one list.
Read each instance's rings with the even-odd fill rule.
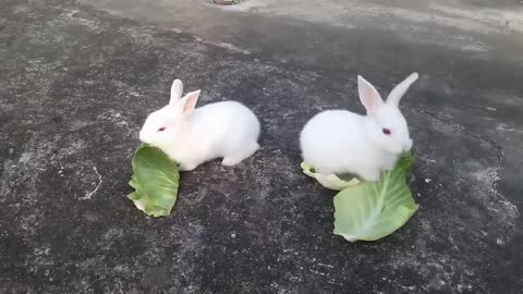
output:
[[376,241],[400,229],[417,210],[406,184],[414,162],[409,154],[378,182],[364,182],[335,197],[335,234],[350,242]]

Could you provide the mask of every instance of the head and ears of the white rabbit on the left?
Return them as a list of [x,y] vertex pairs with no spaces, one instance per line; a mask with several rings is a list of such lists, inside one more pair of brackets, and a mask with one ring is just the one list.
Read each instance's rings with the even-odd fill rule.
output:
[[150,113],[139,131],[143,143],[167,148],[183,139],[188,125],[187,118],[196,107],[199,90],[188,93],[183,98],[182,95],[183,84],[175,79],[172,83],[169,105]]

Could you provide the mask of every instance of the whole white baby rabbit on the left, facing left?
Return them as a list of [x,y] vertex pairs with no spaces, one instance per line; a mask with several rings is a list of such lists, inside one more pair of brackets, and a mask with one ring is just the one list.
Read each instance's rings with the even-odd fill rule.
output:
[[258,149],[260,126],[248,108],[222,101],[195,109],[199,90],[182,94],[183,84],[175,79],[169,105],[150,113],[139,131],[142,142],[160,148],[181,171],[221,157],[221,164],[234,166]]

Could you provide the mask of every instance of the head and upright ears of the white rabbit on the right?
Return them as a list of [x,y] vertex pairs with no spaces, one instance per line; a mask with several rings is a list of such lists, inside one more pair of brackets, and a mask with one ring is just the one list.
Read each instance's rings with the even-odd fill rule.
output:
[[409,127],[398,105],[417,77],[417,73],[411,74],[396,86],[384,101],[370,83],[357,76],[360,100],[367,110],[365,132],[375,145],[387,152],[399,155],[412,147]]

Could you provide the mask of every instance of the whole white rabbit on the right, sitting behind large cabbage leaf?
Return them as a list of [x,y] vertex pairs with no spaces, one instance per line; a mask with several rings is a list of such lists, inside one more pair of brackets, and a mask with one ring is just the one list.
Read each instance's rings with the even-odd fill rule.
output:
[[401,97],[417,79],[417,73],[396,86],[384,102],[376,88],[357,76],[360,100],[367,115],[346,110],[327,110],[304,126],[300,145],[304,161],[321,174],[353,173],[377,181],[391,170],[412,139],[406,121],[398,109]]

